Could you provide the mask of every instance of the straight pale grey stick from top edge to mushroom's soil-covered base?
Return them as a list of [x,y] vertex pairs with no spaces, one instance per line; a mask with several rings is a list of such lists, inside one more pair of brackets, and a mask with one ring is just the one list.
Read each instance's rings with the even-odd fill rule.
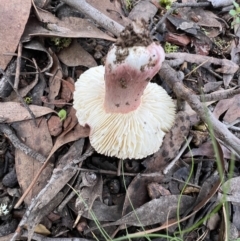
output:
[[92,7],[85,0],[62,0],[67,5],[79,10],[83,14],[86,14],[93,20],[95,20],[99,25],[113,33],[115,36],[118,36],[124,27],[115,22],[113,19],[109,18],[105,14],[98,11],[96,8]]

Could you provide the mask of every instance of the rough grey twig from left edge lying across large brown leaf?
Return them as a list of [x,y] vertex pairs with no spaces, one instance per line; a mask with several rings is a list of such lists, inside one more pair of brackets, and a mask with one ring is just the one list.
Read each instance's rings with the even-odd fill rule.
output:
[[21,150],[26,155],[38,160],[39,162],[44,163],[46,157],[23,144],[7,124],[0,124],[0,131],[8,137],[15,148]]

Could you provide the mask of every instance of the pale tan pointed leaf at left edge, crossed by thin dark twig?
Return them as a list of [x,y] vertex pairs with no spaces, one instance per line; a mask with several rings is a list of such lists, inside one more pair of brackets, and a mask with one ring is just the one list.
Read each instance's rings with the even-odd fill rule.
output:
[[[29,108],[35,117],[40,117],[54,112],[48,107],[38,105],[29,105]],[[0,117],[5,119],[6,123],[32,119],[27,109],[17,102],[0,102],[0,110]]]

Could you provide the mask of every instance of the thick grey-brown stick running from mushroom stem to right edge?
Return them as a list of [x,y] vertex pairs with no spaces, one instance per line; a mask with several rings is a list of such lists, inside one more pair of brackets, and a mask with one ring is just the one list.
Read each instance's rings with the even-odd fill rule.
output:
[[186,100],[191,108],[205,122],[210,122],[217,138],[222,140],[227,146],[230,146],[238,155],[240,155],[240,139],[233,135],[227,127],[215,118],[204,103],[200,101],[200,97],[193,94],[187,89],[177,78],[177,73],[166,62],[159,72],[159,75],[164,79],[178,98]]

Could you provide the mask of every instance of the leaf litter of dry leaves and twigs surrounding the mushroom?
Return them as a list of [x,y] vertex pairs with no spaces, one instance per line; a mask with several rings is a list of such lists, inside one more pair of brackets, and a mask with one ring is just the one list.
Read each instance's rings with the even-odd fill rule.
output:
[[[170,77],[166,76],[167,84],[162,85],[174,99],[177,97],[181,110],[175,125],[166,134],[158,152],[141,161],[123,160],[124,169],[121,169],[121,160],[94,152],[87,138],[89,127],[78,124],[71,106],[74,81],[86,69],[104,63],[117,36],[113,35],[111,28],[101,26],[97,16],[93,21],[87,12],[76,13],[74,8],[69,8],[67,14],[61,12],[67,6],[66,2],[62,2],[65,7],[54,6],[53,1],[32,2],[31,15],[30,1],[14,5],[4,3],[1,8],[0,67],[6,75],[1,75],[0,79],[0,161],[4,158],[5,162],[6,159],[11,161],[5,166],[0,165],[0,175],[5,178],[16,170],[13,178],[17,178],[18,185],[13,184],[13,187],[22,195],[14,201],[14,206],[25,207],[26,211],[18,216],[18,229],[11,216],[0,217],[13,225],[12,231],[4,233],[0,240],[16,240],[23,227],[28,227],[26,236],[29,240],[37,240],[35,232],[41,237],[53,237],[61,232],[70,237],[72,229],[89,240],[92,236],[88,232],[94,229],[90,220],[96,221],[92,211],[101,227],[114,226],[116,237],[127,234],[124,232],[126,225],[130,237],[143,235],[138,227],[144,227],[145,233],[160,234],[160,230],[163,233],[168,229],[168,235],[177,235],[178,223],[182,229],[187,229],[200,221],[200,227],[203,227],[201,219],[212,215],[215,207],[222,205],[223,198],[227,204],[231,203],[234,211],[230,210],[226,216],[219,209],[215,220],[208,219],[206,240],[209,240],[210,233],[219,240],[223,240],[224,235],[229,239],[238,238],[231,236],[233,234],[226,236],[226,223],[221,224],[223,232],[216,234],[225,220],[231,227],[240,228],[237,218],[239,164],[232,164],[233,160],[239,160],[239,154],[234,144],[224,139],[229,133],[240,137],[239,80],[236,74],[239,46],[229,34],[232,32],[238,36],[237,26],[229,27],[232,20],[227,18],[226,12],[219,14],[214,7],[205,5],[203,8],[200,4],[196,8],[178,7],[178,13],[166,16],[162,31],[154,26],[166,9],[157,5],[160,9],[157,13],[157,7],[153,5],[155,9],[149,18],[152,36],[155,40],[167,39],[170,44],[178,45],[179,52],[167,54],[166,59],[174,68],[178,66],[178,71],[185,71],[181,86],[190,90],[190,94],[186,96],[181,88],[173,88],[168,80]],[[125,1],[86,2],[112,19],[112,25],[118,23],[121,26],[132,22],[131,16],[136,16],[134,11],[139,4],[137,1],[131,6]],[[177,6],[178,3],[174,4]],[[219,7],[225,3],[212,4]],[[144,18],[148,17],[146,13],[142,14]],[[155,14],[157,18],[154,18]],[[23,43],[22,55],[17,50],[20,41]],[[229,46],[233,46],[230,51]],[[20,83],[18,89],[12,91],[9,86],[14,78],[19,78]],[[154,80],[158,84],[162,81],[159,76]],[[189,101],[189,96],[196,98]],[[216,119],[212,127],[203,123],[204,116],[194,108],[199,105],[198,100],[204,98],[208,100],[206,108]],[[28,110],[23,102],[27,103]],[[189,109],[184,108],[186,105],[190,106]],[[61,120],[57,115],[61,110],[66,111],[66,119]],[[6,123],[11,124],[10,129],[6,129]],[[228,133],[217,131],[220,123],[227,127]],[[202,125],[206,130],[201,130]],[[211,128],[214,132],[209,135]],[[10,140],[7,148],[4,138]],[[17,142],[14,141],[16,138]],[[25,149],[21,149],[23,146]],[[41,161],[29,153],[41,156]],[[170,168],[171,161],[174,164]],[[231,165],[235,168],[231,169]],[[165,172],[166,168],[169,168],[168,172]],[[218,174],[219,168],[225,173],[220,171]],[[226,174],[224,178],[223,174]],[[5,192],[5,187],[1,190]],[[4,203],[2,199],[0,204],[0,207],[10,208],[9,202]],[[14,214],[16,209],[10,209],[10,212]],[[50,225],[44,222],[51,215],[57,216],[57,226],[62,230],[54,230],[54,221],[50,219]],[[88,222],[90,229],[86,228]],[[158,227],[150,227],[152,225]],[[0,225],[0,233],[1,228],[5,226]],[[9,236],[10,233],[14,234]],[[197,240],[199,235],[196,229],[191,229],[188,234],[192,240]]]

